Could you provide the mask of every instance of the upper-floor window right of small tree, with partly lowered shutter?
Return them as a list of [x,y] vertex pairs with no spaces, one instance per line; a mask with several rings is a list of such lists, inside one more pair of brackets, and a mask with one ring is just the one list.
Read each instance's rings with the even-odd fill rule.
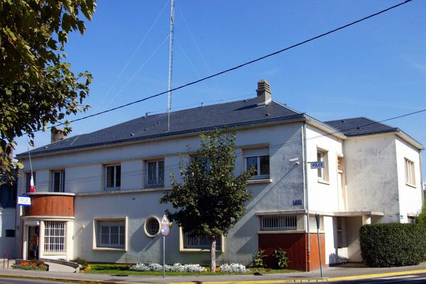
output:
[[269,178],[269,149],[256,148],[244,151],[244,163],[246,170],[251,167],[255,168],[256,172],[253,179]]

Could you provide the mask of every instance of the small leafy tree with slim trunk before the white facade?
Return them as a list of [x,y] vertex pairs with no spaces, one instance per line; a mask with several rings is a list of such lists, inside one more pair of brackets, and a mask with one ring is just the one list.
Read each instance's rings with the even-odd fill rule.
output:
[[175,212],[166,210],[168,217],[191,236],[207,236],[210,244],[210,269],[216,269],[217,236],[226,236],[229,229],[246,211],[251,200],[246,190],[254,168],[234,176],[236,131],[219,130],[201,135],[201,147],[185,163],[180,160],[183,183],[172,175],[171,192],[160,203],[170,202]]

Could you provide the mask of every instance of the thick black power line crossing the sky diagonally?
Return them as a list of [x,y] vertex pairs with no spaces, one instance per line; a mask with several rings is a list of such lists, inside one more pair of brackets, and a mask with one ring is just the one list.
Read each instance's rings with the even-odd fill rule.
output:
[[[396,5],[394,5],[394,6],[391,6],[391,7],[387,8],[387,9],[383,9],[383,10],[378,11],[378,12],[376,12],[376,13],[373,13],[373,14],[371,14],[371,15],[369,15],[369,16],[366,16],[366,17],[364,17],[364,18],[360,18],[359,20],[353,21],[353,22],[351,22],[351,23],[347,23],[346,25],[344,25],[344,26],[340,26],[339,28],[334,28],[333,30],[331,30],[331,31],[327,31],[326,33],[322,33],[322,34],[320,34],[320,35],[316,35],[316,36],[315,36],[315,37],[313,37],[313,38],[309,38],[309,39],[307,39],[307,40],[303,40],[303,41],[301,41],[300,43],[296,43],[296,44],[294,44],[294,45],[290,45],[290,46],[288,46],[287,48],[283,48],[283,49],[278,50],[278,51],[275,51],[275,52],[273,52],[273,53],[269,53],[269,54],[267,54],[267,55],[263,55],[263,56],[262,56],[262,57],[260,57],[260,58],[256,58],[256,59],[254,59],[254,60],[251,60],[251,61],[248,61],[248,62],[242,63],[242,64],[240,64],[240,65],[236,65],[236,66],[234,66],[234,67],[231,67],[231,68],[226,69],[226,70],[221,71],[221,72],[217,72],[217,73],[215,73],[215,74],[213,74],[213,75],[209,75],[209,76],[204,77],[204,78],[202,78],[202,79],[195,80],[195,81],[189,82],[189,83],[187,83],[187,84],[182,84],[182,85],[180,85],[179,87],[175,87],[175,88],[173,88],[173,89],[170,89],[170,90],[167,90],[167,91],[164,91],[164,92],[160,92],[160,93],[158,93],[158,94],[153,94],[153,95],[148,96],[148,97],[145,97],[145,98],[143,98],[143,99],[138,99],[138,100],[136,100],[136,101],[134,101],[134,102],[129,102],[129,103],[127,103],[127,104],[122,104],[122,105],[121,105],[121,106],[119,106],[119,107],[114,107],[114,108],[107,109],[107,110],[104,110],[104,111],[99,111],[99,112],[97,112],[96,114],[90,114],[90,115],[88,115],[88,116],[83,116],[83,117],[80,117],[79,119],[73,119],[73,120],[70,120],[69,122],[81,121],[81,120],[83,120],[83,119],[89,119],[89,118],[94,117],[94,116],[98,116],[98,115],[101,115],[101,114],[106,114],[107,112],[110,112],[110,111],[115,111],[115,110],[117,110],[117,109],[122,109],[122,108],[124,108],[124,107],[129,107],[129,106],[131,106],[132,104],[137,104],[137,103],[139,103],[139,102],[144,102],[144,101],[146,101],[146,100],[148,100],[148,99],[153,99],[153,98],[155,98],[155,97],[159,97],[159,96],[160,96],[160,95],[162,95],[162,94],[167,94],[168,92],[174,92],[174,91],[176,91],[176,90],[178,90],[178,89],[182,89],[182,88],[185,88],[185,87],[189,87],[189,86],[191,86],[192,84],[197,84],[197,83],[199,83],[199,82],[202,82],[202,81],[205,81],[205,80],[211,79],[211,78],[213,78],[213,77],[217,77],[217,76],[219,76],[219,75],[223,75],[223,74],[225,74],[225,73],[227,73],[227,72],[231,72],[231,71],[237,70],[237,69],[239,69],[239,68],[241,68],[241,67],[244,67],[244,66],[246,66],[246,65],[251,65],[251,64],[253,64],[254,62],[258,62],[258,61],[264,60],[264,59],[266,59],[266,58],[270,58],[270,57],[271,57],[271,56],[273,56],[273,55],[278,55],[279,53],[283,53],[284,51],[287,51],[287,50],[290,50],[290,49],[296,48],[296,47],[297,47],[297,46],[299,46],[299,45],[303,45],[303,44],[305,44],[305,43],[310,43],[312,40],[317,40],[317,39],[322,38],[322,37],[324,37],[324,36],[326,36],[326,35],[329,35],[329,34],[331,34],[331,33],[336,33],[337,31],[340,31],[340,30],[342,30],[342,29],[344,29],[344,28],[348,28],[349,26],[354,26],[356,23],[360,23],[360,22],[362,22],[362,21],[366,21],[368,18],[373,18],[373,17],[375,17],[375,16],[378,16],[378,15],[380,15],[381,13],[385,13],[385,12],[387,12],[387,11],[390,11],[390,10],[392,10],[392,9],[395,9],[395,8],[397,8],[397,7],[399,7],[399,6],[402,6],[402,5],[404,5],[404,4],[407,4],[407,3],[408,3],[408,2],[410,2],[410,1],[413,1],[413,0],[405,0],[404,2],[401,2],[400,4],[396,4]],[[50,129],[50,128],[52,128],[52,127],[61,126],[61,125],[63,125],[63,124],[65,124],[65,123],[60,123],[60,124],[57,124],[57,125],[55,125],[55,126],[49,126],[49,127],[48,127],[48,129]],[[41,129],[39,129],[39,130],[37,130],[37,131],[40,131],[40,130],[41,130]],[[34,132],[37,132],[37,131],[34,131]]]

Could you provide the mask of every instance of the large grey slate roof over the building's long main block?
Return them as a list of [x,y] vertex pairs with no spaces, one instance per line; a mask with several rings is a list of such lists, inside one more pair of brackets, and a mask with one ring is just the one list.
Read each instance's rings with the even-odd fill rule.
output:
[[[31,155],[208,131],[223,126],[247,126],[303,118],[304,114],[274,101],[266,107],[258,107],[256,98],[244,99],[237,102],[174,111],[170,114],[170,132],[168,132],[167,114],[141,116],[106,129],[73,136],[35,148],[31,151]],[[25,158],[27,155],[28,153],[21,153],[17,157]]]

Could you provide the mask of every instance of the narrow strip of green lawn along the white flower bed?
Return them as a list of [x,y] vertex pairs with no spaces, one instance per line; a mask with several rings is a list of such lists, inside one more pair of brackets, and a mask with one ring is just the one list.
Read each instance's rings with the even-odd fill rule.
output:
[[[163,271],[129,271],[129,265],[126,264],[118,264],[118,263],[91,263],[91,269],[88,271],[84,271],[84,273],[105,273],[112,275],[163,275]],[[297,272],[289,269],[270,269],[270,268],[249,268],[249,273],[212,273],[207,268],[207,272],[203,273],[189,273],[189,272],[166,272],[166,275],[229,275],[229,274],[253,274],[253,273],[261,273],[261,274],[271,274],[271,273],[290,273]]]

